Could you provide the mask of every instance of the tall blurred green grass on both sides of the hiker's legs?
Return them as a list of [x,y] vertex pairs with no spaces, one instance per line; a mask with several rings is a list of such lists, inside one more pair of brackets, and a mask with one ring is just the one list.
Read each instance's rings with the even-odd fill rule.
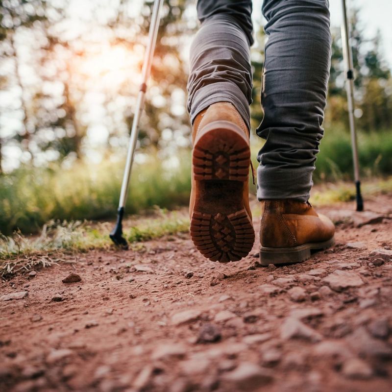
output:
[[[359,133],[359,158],[364,178],[392,174],[392,132]],[[252,137],[252,157],[262,141]],[[314,173],[315,184],[347,181],[352,177],[349,134],[340,129],[327,129]],[[127,214],[140,213],[158,206],[173,209],[185,206],[191,189],[190,151],[176,154],[179,165],[168,169],[157,154],[147,162],[135,164],[127,199]],[[123,163],[99,165],[76,163],[71,169],[21,168],[0,177],[0,232],[10,235],[15,230],[37,233],[50,220],[84,221],[114,219]],[[256,187],[250,186],[255,193]],[[349,199],[351,193],[340,198]]]

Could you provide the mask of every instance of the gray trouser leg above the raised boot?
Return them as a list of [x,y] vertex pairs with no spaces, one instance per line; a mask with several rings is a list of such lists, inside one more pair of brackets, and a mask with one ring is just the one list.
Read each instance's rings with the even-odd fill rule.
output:
[[251,0],[198,0],[201,22],[190,51],[188,111],[196,115],[215,102],[231,102],[250,127],[252,71]]

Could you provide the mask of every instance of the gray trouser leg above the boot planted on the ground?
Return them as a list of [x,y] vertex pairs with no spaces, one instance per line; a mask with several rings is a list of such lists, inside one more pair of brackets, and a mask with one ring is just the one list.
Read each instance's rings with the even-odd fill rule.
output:
[[323,136],[331,57],[328,0],[264,0],[268,23],[257,134],[259,200],[307,201]]

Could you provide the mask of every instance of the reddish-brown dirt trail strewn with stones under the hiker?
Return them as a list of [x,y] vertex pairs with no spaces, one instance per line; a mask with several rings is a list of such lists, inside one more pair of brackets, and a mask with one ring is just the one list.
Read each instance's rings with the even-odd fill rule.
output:
[[300,265],[182,235],[1,282],[0,391],[391,391],[392,195],[366,207],[319,209],[337,245]]

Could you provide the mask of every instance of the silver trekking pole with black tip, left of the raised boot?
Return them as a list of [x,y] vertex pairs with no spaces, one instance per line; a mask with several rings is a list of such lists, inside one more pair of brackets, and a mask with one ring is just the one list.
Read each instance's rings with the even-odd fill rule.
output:
[[133,157],[134,157],[135,148],[139,135],[138,124],[139,124],[140,116],[143,111],[144,97],[147,90],[147,81],[151,71],[151,63],[152,63],[152,58],[154,56],[154,49],[155,49],[156,39],[158,35],[159,22],[161,19],[160,11],[162,8],[162,4],[163,4],[163,0],[155,0],[154,6],[152,8],[151,23],[148,32],[148,45],[146,48],[146,53],[143,62],[143,69],[142,69],[143,81],[142,84],[140,85],[140,90],[136,101],[135,115],[133,117],[132,128],[130,132],[123,183],[121,185],[119,208],[117,210],[117,222],[116,222],[116,226],[114,227],[114,229],[111,231],[109,235],[111,240],[116,245],[121,245],[125,248],[127,247],[127,242],[123,237],[124,208],[125,208],[126,196],[128,194],[128,184],[131,176]]

